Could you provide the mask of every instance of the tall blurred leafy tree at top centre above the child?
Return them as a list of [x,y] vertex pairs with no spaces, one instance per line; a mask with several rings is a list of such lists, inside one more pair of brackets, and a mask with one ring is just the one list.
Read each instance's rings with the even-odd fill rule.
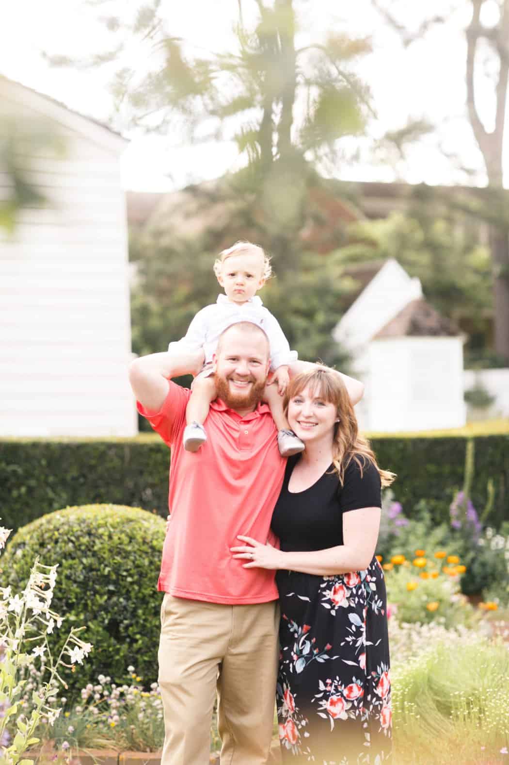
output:
[[[218,52],[172,34],[160,0],[141,6],[130,24],[104,16],[105,0],[99,7],[110,50],[79,62],[51,60],[113,67],[112,93],[128,125],[165,135],[182,129],[190,142],[234,139],[246,167],[235,174],[233,193],[251,195],[271,250],[290,265],[313,168],[334,155],[340,138],[361,132],[370,111],[368,89],[354,71],[369,42],[329,31],[298,47],[298,0],[248,4],[251,21],[238,0],[233,50]],[[139,47],[146,50],[145,67],[129,63],[133,44],[138,61]]]

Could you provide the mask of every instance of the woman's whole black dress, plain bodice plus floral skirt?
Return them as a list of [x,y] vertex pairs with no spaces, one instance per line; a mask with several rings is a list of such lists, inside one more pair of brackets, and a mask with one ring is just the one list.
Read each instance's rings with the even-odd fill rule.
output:
[[[312,487],[288,491],[298,457],[288,460],[272,529],[284,551],[343,544],[342,514],[381,506],[378,470],[351,461],[343,487],[332,465]],[[277,571],[280,665],[277,716],[284,763],[387,762],[391,680],[384,575],[333,576]]]

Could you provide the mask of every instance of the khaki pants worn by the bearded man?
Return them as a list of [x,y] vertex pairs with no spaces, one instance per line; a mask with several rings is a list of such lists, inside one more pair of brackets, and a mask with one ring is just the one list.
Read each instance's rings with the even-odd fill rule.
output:
[[222,605],[165,593],[159,685],[161,765],[209,763],[219,696],[221,765],[265,765],[271,747],[279,647],[277,601]]

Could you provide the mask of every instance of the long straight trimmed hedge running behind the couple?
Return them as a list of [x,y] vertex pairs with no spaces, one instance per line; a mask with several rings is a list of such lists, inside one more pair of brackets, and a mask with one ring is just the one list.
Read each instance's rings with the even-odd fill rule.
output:
[[[397,473],[394,496],[407,516],[427,500],[433,517],[445,519],[462,487],[462,436],[376,437],[371,444],[381,467]],[[488,480],[494,481],[494,525],[509,519],[509,434],[475,441],[472,500],[481,510]],[[0,441],[0,517],[18,529],[67,505],[115,503],[167,515],[170,452],[157,436],[112,441]]]

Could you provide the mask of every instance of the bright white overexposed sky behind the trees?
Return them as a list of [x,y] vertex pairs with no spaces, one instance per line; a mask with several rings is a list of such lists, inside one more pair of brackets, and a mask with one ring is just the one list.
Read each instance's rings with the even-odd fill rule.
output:
[[[16,0],[2,15],[0,73],[71,109],[107,121],[112,112],[108,70],[56,69],[42,54],[79,56],[101,50],[107,39],[96,16],[109,6],[115,11],[116,6],[121,18],[131,18],[140,4],[139,0],[93,0],[95,7],[90,8],[83,0]],[[358,152],[358,161],[339,161],[327,168],[329,174],[344,180],[465,182],[466,176],[453,170],[446,157],[458,152],[462,164],[475,171],[472,180],[484,183],[479,172],[480,155],[465,120],[462,27],[468,23],[468,13],[451,15],[448,23],[404,49],[369,0],[296,0],[296,5],[300,8],[299,44],[323,38],[330,29],[367,35],[373,43],[373,53],[363,60],[358,72],[374,94],[376,119],[371,122],[368,138],[346,142],[350,154]],[[410,25],[418,27],[420,4],[394,0],[394,5],[404,12]],[[426,12],[441,12],[444,5],[446,0],[427,0]],[[485,11],[487,23],[489,6],[490,2]],[[183,37],[196,50],[231,49],[238,0],[162,0],[162,8],[171,33]],[[243,0],[243,8],[249,21],[256,8],[254,0]],[[134,67],[146,65],[146,49],[131,49],[128,57],[126,63]],[[477,95],[489,128],[490,93],[483,83],[479,83]],[[439,131],[413,148],[406,163],[387,158],[374,163],[368,156],[374,140],[387,130],[400,128],[409,116],[430,119],[439,125]],[[218,177],[238,166],[232,142],[182,145],[175,135],[142,135],[129,131],[127,125],[117,122],[117,126],[130,139],[122,158],[126,189],[172,190]]]

